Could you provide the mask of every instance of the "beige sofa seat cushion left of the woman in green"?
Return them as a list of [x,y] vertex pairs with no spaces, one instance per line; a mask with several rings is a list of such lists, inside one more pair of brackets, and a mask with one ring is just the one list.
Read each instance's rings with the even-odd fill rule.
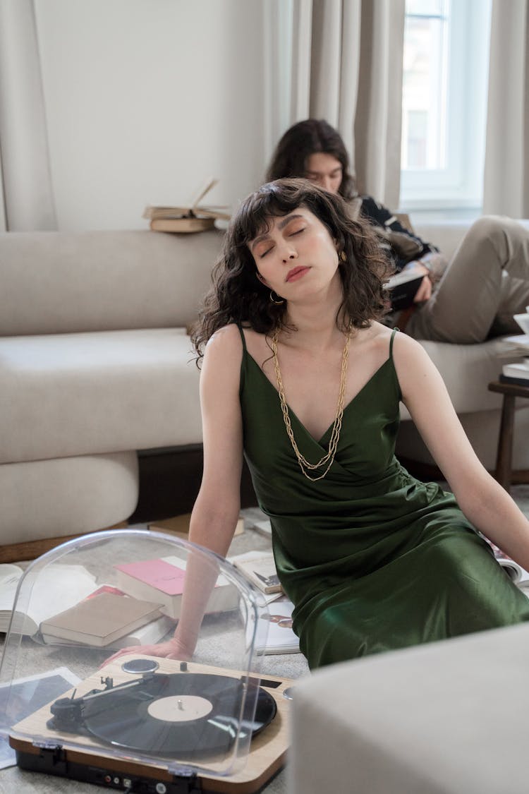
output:
[[182,329],[0,339],[0,462],[201,443]]

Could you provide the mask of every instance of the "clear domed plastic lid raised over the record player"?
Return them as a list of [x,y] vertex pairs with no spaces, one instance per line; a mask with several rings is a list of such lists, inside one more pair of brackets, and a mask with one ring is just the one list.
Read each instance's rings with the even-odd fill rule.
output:
[[[74,758],[103,778],[121,768],[236,776],[277,711],[255,653],[265,613],[232,565],[171,535],[109,530],[63,543],[18,584],[0,669],[2,741],[43,772]],[[174,645],[159,655],[181,616],[182,628],[197,626],[193,656],[178,658]]]

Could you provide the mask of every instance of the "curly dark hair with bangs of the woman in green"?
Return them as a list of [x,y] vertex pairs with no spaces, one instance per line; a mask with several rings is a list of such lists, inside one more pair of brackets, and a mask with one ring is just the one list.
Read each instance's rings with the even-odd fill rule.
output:
[[213,268],[213,287],[191,333],[199,359],[213,333],[230,323],[268,335],[287,327],[286,301],[272,303],[269,287],[257,278],[248,244],[270,228],[270,218],[282,218],[300,206],[320,219],[344,255],[339,264],[343,285],[343,303],[336,318],[339,327],[367,328],[387,312],[384,283],[394,268],[370,223],[352,220],[341,196],[308,179],[277,179],[251,193],[232,218]]

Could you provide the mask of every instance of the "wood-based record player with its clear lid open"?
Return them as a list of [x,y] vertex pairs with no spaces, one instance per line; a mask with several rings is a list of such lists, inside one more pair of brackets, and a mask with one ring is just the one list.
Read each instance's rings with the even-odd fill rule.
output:
[[[238,594],[232,609],[206,613],[192,660],[158,657],[148,646],[116,657],[113,647],[25,634],[35,583],[44,569],[49,579],[49,566],[58,582],[64,566],[82,565],[95,586],[112,587],[117,565],[174,556],[200,581],[222,578]],[[284,765],[292,682],[259,676],[266,605],[217,555],[142,530],[87,535],[30,565],[15,606],[2,660],[2,733],[22,769],[125,792],[252,794]],[[68,672],[63,687],[33,700],[34,682],[58,670]]]

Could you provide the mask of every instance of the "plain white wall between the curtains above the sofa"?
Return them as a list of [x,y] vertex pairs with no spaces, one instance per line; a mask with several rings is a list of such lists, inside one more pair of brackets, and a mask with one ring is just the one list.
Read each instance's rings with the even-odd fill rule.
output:
[[263,178],[266,0],[35,0],[59,229],[236,206]]

